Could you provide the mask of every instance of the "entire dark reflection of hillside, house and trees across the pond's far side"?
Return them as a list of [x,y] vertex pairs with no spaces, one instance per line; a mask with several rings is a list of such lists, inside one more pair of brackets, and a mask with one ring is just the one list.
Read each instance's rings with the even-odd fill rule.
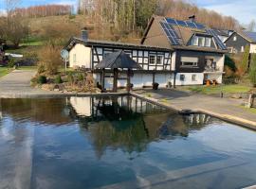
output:
[[212,119],[204,114],[180,115],[132,96],[0,99],[0,107],[4,117],[17,122],[51,127],[78,123],[99,158],[107,149],[140,153],[151,142],[188,137]]

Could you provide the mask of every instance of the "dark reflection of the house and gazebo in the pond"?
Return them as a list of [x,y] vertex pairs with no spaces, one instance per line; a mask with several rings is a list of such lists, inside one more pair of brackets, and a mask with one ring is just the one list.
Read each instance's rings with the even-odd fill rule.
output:
[[188,137],[210,123],[209,116],[183,116],[132,96],[72,97],[70,104],[99,158],[110,149],[139,153],[153,141]]

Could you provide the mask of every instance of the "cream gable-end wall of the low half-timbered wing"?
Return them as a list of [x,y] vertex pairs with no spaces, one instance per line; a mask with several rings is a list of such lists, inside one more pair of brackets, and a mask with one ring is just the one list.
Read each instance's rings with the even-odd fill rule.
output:
[[69,66],[91,68],[91,48],[77,43],[69,51]]

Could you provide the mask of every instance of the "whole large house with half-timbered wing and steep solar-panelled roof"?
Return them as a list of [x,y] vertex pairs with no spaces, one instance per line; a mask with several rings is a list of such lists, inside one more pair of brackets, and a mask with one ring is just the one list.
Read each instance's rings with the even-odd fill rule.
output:
[[[136,60],[143,70],[135,70],[131,82],[135,88],[172,85],[202,85],[207,79],[222,83],[227,47],[214,29],[192,20],[179,21],[153,16],[140,44],[102,42],[71,38],[64,47],[69,52],[70,67],[92,70],[97,81],[101,72],[95,66],[109,53],[123,50]],[[119,87],[126,85],[121,79]],[[105,84],[111,88],[112,73]]]

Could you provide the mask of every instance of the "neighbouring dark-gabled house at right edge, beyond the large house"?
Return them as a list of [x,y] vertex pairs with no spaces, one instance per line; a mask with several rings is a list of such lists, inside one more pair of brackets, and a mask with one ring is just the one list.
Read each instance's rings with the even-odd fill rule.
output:
[[256,53],[256,32],[235,31],[229,36],[225,43],[231,54],[245,52],[247,45],[249,46],[250,54]]

